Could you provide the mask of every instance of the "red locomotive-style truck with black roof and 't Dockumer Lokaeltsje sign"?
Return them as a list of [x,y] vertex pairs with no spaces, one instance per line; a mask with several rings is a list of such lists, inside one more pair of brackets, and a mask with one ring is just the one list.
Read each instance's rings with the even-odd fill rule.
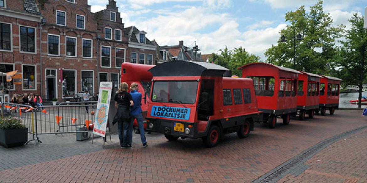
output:
[[245,138],[262,119],[251,79],[223,77],[226,68],[203,62],[170,61],[153,74],[147,131],[169,141],[202,138],[208,147],[222,135]]

